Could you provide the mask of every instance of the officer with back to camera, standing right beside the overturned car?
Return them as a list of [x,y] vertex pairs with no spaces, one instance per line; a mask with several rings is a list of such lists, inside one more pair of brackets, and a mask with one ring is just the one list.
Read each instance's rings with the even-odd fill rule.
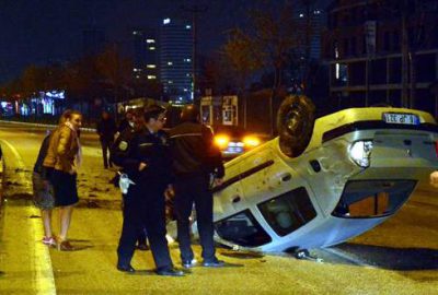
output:
[[177,224],[181,259],[184,268],[196,264],[191,247],[189,216],[193,204],[196,209],[197,226],[203,247],[204,267],[223,267],[216,258],[214,244],[212,193],[210,175],[216,184],[224,175],[220,151],[214,145],[211,129],[199,122],[196,106],[186,106],[181,115],[182,123],[170,132],[173,153],[174,210]]

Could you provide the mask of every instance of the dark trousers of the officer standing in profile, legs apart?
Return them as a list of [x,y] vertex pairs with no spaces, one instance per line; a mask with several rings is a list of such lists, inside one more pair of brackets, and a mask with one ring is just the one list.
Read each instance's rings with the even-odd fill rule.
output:
[[124,223],[118,243],[118,263],[129,264],[132,259],[138,228],[145,226],[157,269],[173,267],[165,238],[165,186],[153,184],[129,187],[124,205]]

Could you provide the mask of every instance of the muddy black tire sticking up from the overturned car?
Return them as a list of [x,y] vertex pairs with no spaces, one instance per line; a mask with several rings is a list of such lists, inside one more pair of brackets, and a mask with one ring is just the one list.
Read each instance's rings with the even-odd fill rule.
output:
[[312,138],[315,107],[302,95],[288,96],[277,114],[277,130],[281,152],[297,157],[304,152]]

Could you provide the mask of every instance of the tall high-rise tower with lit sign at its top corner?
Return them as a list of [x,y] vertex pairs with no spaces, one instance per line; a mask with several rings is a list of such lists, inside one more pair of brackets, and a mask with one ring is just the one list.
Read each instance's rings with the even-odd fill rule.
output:
[[165,19],[160,32],[160,80],[172,101],[193,101],[193,32],[189,22]]

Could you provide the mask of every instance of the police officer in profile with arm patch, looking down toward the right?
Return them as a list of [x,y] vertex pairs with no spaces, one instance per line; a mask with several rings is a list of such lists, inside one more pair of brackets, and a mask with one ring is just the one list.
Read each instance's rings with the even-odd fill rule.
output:
[[182,276],[174,269],[165,238],[164,191],[172,181],[172,160],[168,138],[162,128],[165,109],[152,106],[145,113],[145,125],[127,140],[120,134],[114,149],[114,162],[135,182],[124,205],[124,224],[118,244],[117,269],[135,272],[130,266],[137,228],[146,226],[152,256],[160,275]]

